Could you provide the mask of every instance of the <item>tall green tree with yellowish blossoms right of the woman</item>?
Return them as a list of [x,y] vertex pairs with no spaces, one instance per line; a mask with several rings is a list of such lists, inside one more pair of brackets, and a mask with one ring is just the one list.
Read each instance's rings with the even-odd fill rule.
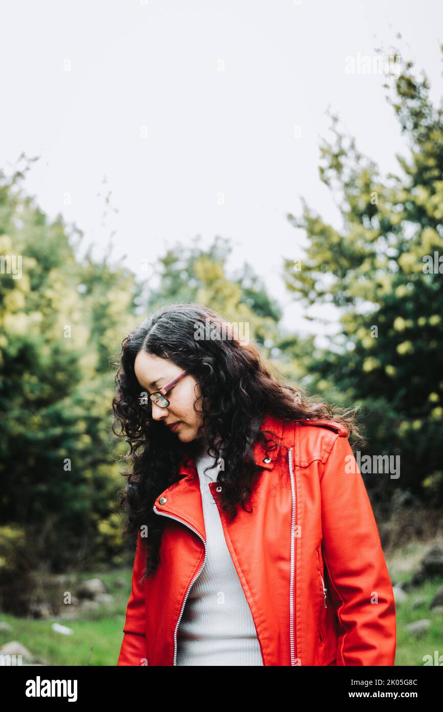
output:
[[[331,117],[333,140],[321,145],[321,180],[338,197],[335,229],[303,200],[309,246],[301,268],[284,264],[288,290],[306,305],[341,309],[341,330],[314,354],[312,387],[363,406],[369,449],[401,454],[395,485],[433,501],[443,498],[443,120],[425,73],[402,60],[385,83],[409,155],[400,174],[380,176],[353,137]],[[439,257],[429,270],[427,256]],[[374,481],[375,483],[375,481]]]

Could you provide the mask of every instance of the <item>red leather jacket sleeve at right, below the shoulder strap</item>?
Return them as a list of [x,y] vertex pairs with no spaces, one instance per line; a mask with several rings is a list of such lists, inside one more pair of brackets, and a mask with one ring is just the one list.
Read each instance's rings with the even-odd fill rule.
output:
[[338,619],[337,665],[394,665],[395,601],[377,524],[346,436],[324,464],[321,522],[330,597]]

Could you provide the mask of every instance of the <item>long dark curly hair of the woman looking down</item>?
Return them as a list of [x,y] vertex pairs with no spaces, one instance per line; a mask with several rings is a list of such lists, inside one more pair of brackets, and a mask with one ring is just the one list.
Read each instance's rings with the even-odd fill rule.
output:
[[[211,330],[219,329],[219,335],[226,335],[228,330],[229,337],[196,339],[197,326],[208,324]],[[349,435],[362,439],[357,409],[338,412],[329,404],[308,397],[304,389],[279,383],[257,347],[240,340],[235,325],[220,314],[196,303],[157,310],[124,338],[115,364],[117,392],[112,400],[112,431],[124,436],[129,444],[124,459],[130,465],[122,472],[127,483],[119,490],[117,500],[117,508],[127,512],[122,538],[137,535],[142,525],[147,526],[145,576],[159,565],[165,520],[154,513],[154,501],[179,480],[179,465],[183,457],[188,461],[195,456],[199,438],[181,443],[163,423],[152,419],[150,401],[147,406],[141,403],[144,389],[134,372],[134,361],[141,350],[168,358],[187,369],[198,382],[201,396],[194,404],[202,418],[198,436],[204,435],[215,461],[223,454],[225,469],[218,473],[218,481],[223,483],[220,503],[231,519],[237,514],[237,506],[252,511],[247,508],[251,481],[260,471],[254,462],[255,443],[261,441],[268,452],[283,448],[277,434],[260,431],[265,414],[289,421],[335,420],[348,429]],[[280,456],[279,451],[277,459]]]

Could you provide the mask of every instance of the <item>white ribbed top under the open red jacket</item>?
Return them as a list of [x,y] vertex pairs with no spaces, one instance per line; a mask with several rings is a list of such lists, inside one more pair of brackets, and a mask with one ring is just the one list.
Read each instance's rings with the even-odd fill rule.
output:
[[[209,482],[218,476],[204,449],[196,457],[206,529],[206,562],[177,631],[177,665],[262,665],[254,620],[226,545]],[[210,466],[211,469],[203,473]]]

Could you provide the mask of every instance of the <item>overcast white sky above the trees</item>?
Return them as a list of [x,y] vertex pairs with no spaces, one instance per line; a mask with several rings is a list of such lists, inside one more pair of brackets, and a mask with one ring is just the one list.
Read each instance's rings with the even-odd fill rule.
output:
[[[0,166],[41,159],[25,187],[143,276],[176,240],[233,239],[284,308],[283,258],[300,196],[338,225],[318,174],[330,107],[358,148],[397,171],[405,142],[383,75],[348,74],[346,56],[392,50],[398,31],[432,95],[442,93],[443,4],[422,0],[19,0],[1,4]],[[294,127],[301,136],[294,137]],[[106,177],[107,184],[102,184]],[[105,224],[105,196],[112,190]],[[220,194],[224,204],[220,204]],[[69,202],[70,201],[70,202]],[[322,316],[333,311],[321,308]],[[333,330],[333,328],[331,329]]]

